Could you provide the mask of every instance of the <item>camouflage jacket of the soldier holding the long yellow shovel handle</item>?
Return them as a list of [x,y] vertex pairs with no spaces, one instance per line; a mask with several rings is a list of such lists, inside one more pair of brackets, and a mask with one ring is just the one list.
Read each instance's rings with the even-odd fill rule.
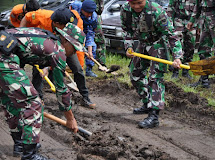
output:
[[182,58],[181,43],[170,18],[160,5],[146,1],[143,11],[137,14],[127,2],[122,6],[120,15],[125,49],[132,47],[134,39],[138,39],[147,47],[154,45],[162,36],[166,36],[174,57]]

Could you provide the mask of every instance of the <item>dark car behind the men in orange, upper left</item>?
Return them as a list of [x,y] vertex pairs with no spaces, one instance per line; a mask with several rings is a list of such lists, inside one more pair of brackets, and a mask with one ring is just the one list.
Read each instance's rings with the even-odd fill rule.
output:
[[[57,10],[58,8],[66,7],[71,0],[39,0],[41,8],[48,10]],[[0,13],[0,24],[11,28],[13,25],[10,22],[10,12],[12,8]]]

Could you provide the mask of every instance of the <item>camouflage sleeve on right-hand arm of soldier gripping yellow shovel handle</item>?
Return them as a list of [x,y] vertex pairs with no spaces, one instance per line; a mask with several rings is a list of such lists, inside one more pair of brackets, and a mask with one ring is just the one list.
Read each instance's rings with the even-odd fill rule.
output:
[[162,11],[157,17],[156,22],[157,29],[162,35],[166,35],[170,44],[170,49],[175,59],[183,58],[182,45],[176,35],[175,29],[170,18],[165,11]]

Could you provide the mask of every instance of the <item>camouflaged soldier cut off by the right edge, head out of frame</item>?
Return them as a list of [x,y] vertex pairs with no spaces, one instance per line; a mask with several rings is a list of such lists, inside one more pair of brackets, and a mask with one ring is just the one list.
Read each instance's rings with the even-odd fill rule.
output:
[[[198,54],[200,59],[205,59],[212,56],[212,49],[215,46],[215,1],[214,0],[197,0],[192,17],[187,24],[187,28],[192,30],[193,25],[201,16],[202,31]],[[202,85],[204,88],[209,88],[210,83],[208,75],[201,76],[199,81],[191,84],[192,87]]]

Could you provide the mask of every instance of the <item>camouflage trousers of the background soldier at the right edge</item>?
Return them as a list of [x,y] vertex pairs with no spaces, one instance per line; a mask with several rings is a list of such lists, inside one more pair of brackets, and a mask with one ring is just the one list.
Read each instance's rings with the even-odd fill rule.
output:
[[215,13],[206,12],[202,16],[203,25],[200,35],[198,53],[200,59],[205,59],[213,56],[212,50],[215,49]]

